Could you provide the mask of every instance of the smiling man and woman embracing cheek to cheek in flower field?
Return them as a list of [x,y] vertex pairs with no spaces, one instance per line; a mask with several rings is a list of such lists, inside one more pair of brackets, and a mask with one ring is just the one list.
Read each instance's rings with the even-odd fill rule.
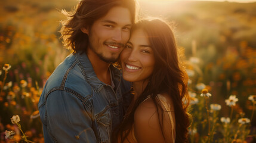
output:
[[61,21],[70,54],[39,101],[45,142],[187,142],[187,74],[171,27],[134,0],[82,0]]

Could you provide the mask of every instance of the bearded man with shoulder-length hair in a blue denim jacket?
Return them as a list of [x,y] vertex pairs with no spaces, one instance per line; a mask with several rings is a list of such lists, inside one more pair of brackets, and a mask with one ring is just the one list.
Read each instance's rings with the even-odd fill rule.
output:
[[[130,85],[112,64],[129,39],[134,0],[82,0],[61,35],[70,54],[49,77],[39,101],[45,142],[111,142]],[[126,96],[127,97],[127,96]]]

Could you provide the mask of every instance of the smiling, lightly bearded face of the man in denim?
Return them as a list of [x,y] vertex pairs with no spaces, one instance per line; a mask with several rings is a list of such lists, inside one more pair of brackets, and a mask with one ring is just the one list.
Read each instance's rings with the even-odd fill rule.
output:
[[89,36],[87,52],[91,50],[107,63],[115,62],[129,39],[131,24],[131,14],[127,8],[111,8],[89,30],[81,29]]

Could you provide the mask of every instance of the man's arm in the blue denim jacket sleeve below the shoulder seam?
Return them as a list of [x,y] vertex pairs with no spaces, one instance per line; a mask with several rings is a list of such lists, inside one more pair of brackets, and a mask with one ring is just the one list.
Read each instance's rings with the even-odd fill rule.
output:
[[66,91],[54,91],[45,104],[48,133],[57,142],[97,142],[87,105]]

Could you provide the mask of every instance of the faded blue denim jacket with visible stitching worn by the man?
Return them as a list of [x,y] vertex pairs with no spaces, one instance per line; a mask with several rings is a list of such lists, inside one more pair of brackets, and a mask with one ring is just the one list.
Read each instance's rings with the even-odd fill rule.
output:
[[86,54],[70,54],[45,83],[38,108],[45,142],[111,142],[129,104],[129,82],[110,65],[115,88],[101,82]]

